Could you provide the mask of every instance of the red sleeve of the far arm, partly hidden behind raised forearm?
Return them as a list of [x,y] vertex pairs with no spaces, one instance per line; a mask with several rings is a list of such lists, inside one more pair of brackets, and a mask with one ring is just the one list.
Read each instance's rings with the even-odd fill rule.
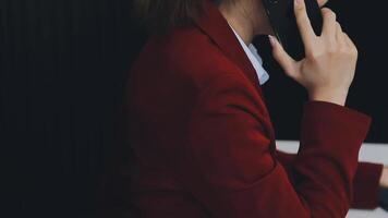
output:
[[[287,168],[289,174],[292,173],[292,161],[296,155],[277,152],[279,161]],[[383,165],[373,162],[359,162],[353,180],[352,208],[374,209],[379,203],[379,181],[383,172]]]

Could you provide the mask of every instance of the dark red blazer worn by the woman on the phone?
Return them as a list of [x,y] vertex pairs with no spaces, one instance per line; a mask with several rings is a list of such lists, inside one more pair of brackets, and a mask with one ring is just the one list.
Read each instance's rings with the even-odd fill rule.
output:
[[218,9],[206,11],[151,37],[133,68],[129,189],[137,215],[325,218],[344,217],[352,199],[375,207],[381,166],[357,164],[369,118],[306,102],[298,155],[278,153],[251,62]]

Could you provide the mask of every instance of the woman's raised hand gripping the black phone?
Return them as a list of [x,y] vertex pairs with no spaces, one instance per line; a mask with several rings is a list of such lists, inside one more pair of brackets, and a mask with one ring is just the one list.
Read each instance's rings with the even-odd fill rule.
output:
[[336,14],[322,9],[324,27],[322,36],[316,36],[307,16],[304,0],[295,1],[295,16],[304,43],[305,59],[296,62],[270,36],[275,59],[286,74],[303,85],[311,100],[344,105],[349,87],[353,81],[357,49],[342,32]]

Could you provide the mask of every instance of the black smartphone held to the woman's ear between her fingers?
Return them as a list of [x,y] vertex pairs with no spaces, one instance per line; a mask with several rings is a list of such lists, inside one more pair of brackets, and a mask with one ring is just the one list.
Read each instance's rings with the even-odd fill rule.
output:
[[[304,0],[307,15],[317,36],[320,36],[323,17],[317,0]],[[304,58],[304,46],[299,32],[294,0],[263,0],[276,37],[284,50],[295,60]]]

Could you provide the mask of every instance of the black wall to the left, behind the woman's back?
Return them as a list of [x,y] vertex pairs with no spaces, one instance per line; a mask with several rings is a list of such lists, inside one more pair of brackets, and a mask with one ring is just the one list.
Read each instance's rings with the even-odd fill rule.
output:
[[130,9],[129,0],[0,0],[0,198],[10,204],[0,217],[94,209],[143,40]]

